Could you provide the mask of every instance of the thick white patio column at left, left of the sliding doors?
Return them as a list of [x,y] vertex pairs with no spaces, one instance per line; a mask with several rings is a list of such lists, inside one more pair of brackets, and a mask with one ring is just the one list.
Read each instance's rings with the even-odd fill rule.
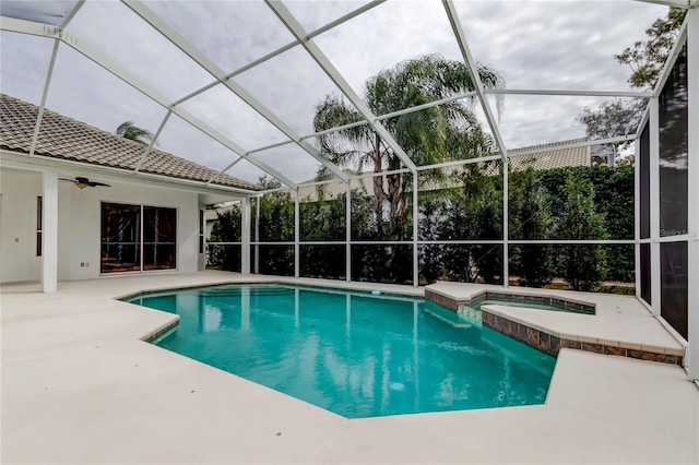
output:
[[58,288],[58,174],[43,172],[42,290]]

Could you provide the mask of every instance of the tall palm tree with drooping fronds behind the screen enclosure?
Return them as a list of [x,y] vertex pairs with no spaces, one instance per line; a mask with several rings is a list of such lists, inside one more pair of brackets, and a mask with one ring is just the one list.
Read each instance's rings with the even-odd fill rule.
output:
[[[478,67],[478,75],[486,88],[503,88],[505,81],[495,71]],[[427,55],[406,60],[367,80],[364,100],[374,115],[386,115],[475,88],[471,70],[462,62]],[[473,106],[474,97],[450,102],[382,120],[382,124],[415,162],[431,165],[449,159],[463,159],[487,154],[494,150],[493,139],[483,131]],[[498,111],[501,99],[497,99]],[[313,127],[317,132],[360,121],[362,115],[342,96],[325,96],[316,107]],[[357,170],[365,167],[375,172],[401,167],[401,159],[368,126],[358,126],[319,136],[321,153],[332,163]],[[319,177],[328,177],[321,168]],[[433,170],[431,177],[441,177]],[[383,202],[390,204],[393,234],[402,238],[407,219],[406,186],[411,176],[390,174],[374,178],[374,212],[381,234]],[[427,181],[420,176],[420,181]],[[386,186],[386,188],[384,188]]]

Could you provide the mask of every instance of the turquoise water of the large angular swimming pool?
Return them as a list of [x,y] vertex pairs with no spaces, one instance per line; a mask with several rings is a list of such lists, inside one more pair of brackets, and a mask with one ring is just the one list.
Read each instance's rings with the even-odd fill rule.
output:
[[541,404],[555,365],[423,299],[244,285],[129,301],[180,315],[158,346],[347,418]]

